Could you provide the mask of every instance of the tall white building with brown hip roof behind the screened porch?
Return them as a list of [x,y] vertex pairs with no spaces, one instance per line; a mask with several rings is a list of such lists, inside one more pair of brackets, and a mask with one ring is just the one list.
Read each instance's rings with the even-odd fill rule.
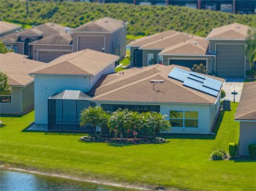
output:
[[[119,56],[85,49],[60,56],[41,68],[31,71],[30,76],[35,78],[35,123],[48,123],[50,119],[47,118],[49,97],[64,90],[88,92],[103,74],[115,72],[115,62],[118,60]],[[77,100],[76,95],[78,94],[75,93],[71,97]],[[64,111],[59,117],[64,115],[64,120],[67,120],[66,122],[69,122],[69,124],[71,122],[70,118],[76,114],[74,108],[69,109],[68,107],[71,103],[67,103],[63,107],[56,107],[57,110],[61,111],[63,108]]]

